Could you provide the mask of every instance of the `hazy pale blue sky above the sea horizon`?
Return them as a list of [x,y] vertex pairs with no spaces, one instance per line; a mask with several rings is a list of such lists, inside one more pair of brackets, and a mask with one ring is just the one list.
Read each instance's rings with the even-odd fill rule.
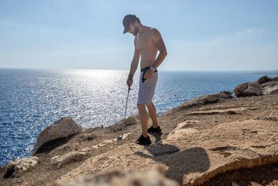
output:
[[0,68],[129,70],[122,19],[161,32],[161,70],[278,70],[278,1],[1,0]]

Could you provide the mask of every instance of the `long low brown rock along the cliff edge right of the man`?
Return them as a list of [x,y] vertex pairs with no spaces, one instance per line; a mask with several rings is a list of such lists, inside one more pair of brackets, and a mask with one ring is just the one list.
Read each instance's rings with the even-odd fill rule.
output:
[[189,100],[188,102],[183,103],[181,106],[177,108],[177,110],[182,109],[190,109],[192,107],[200,107],[205,104],[211,104],[216,102],[226,101],[227,99],[232,98],[231,95],[227,95],[226,93],[215,93],[211,95],[202,95],[199,98],[195,98],[194,100]]

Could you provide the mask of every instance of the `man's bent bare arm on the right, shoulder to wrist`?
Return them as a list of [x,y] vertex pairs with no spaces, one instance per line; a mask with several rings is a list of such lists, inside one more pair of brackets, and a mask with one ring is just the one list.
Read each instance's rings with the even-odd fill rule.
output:
[[152,65],[154,68],[158,68],[159,65],[161,65],[161,63],[164,61],[165,57],[167,56],[167,50],[165,47],[165,44],[163,42],[163,39],[161,37],[161,33],[159,33],[158,30],[156,29],[152,29],[153,31],[153,41],[154,41],[154,45],[156,45],[156,48],[159,51],[159,54],[156,58],[156,61],[154,62],[154,64]]

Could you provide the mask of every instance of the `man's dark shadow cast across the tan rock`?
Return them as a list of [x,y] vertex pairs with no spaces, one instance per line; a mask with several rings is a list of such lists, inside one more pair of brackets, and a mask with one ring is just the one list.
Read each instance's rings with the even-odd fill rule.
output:
[[194,147],[179,150],[177,146],[161,144],[160,136],[155,137],[157,143],[145,147],[152,155],[140,151],[135,154],[167,165],[169,167],[166,173],[167,178],[172,178],[182,184],[184,174],[205,172],[210,167],[211,164],[204,148]]

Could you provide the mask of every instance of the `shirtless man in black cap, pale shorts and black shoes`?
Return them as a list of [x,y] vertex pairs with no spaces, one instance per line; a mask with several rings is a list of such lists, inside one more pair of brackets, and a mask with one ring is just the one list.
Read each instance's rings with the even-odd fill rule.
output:
[[[156,117],[156,107],[152,102],[156,82],[158,79],[158,72],[156,68],[163,62],[167,56],[167,51],[161,38],[161,33],[158,30],[144,26],[136,15],[126,15],[122,21],[124,25],[124,33],[129,32],[135,36],[134,38],[134,55],[131,61],[131,68],[126,84],[130,87],[133,84],[133,75],[138,68],[140,59],[140,83],[138,92],[137,107],[140,114],[140,121],[142,127],[142,135],[136,141],[140,145],[152,144],[151,139],[147,133],[161,134],[161,127],[158,126]],[[159,54],[156,58],[157,52]],[[147,128],[148,115],[152,118],[152,126]]]

